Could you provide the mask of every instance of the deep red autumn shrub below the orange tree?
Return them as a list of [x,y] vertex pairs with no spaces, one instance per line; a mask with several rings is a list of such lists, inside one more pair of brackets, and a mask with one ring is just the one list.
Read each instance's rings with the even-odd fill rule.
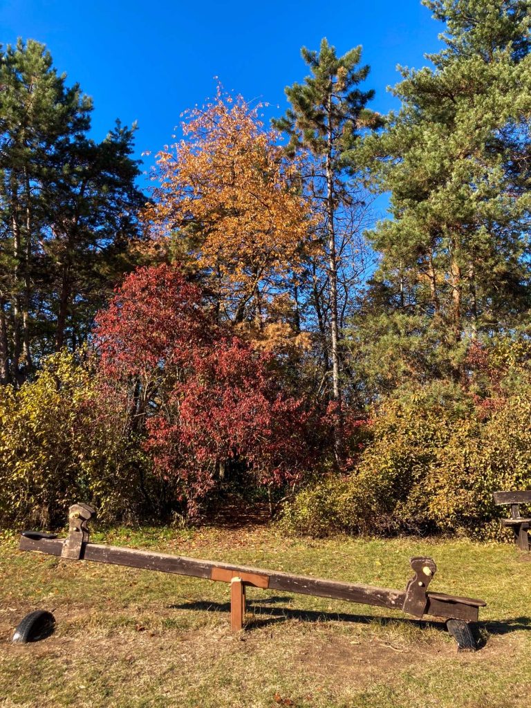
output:
[[130,275],[98,317],[96,346],[188,515],[234,466],[278,485],[314,464],[312,407],[282,392],[271,353],[217,324],[178,266]]

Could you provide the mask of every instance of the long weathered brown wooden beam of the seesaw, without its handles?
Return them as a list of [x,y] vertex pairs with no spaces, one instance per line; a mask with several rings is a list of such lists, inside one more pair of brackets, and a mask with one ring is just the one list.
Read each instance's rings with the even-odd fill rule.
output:
[[[63,549],[62,539],[35,539],[21,536],[20,549],[22,551],[38,551],[54,556],[61,556]],[[251,566],[239,566],[219,561],[206,561],[184,556],[173,556],[137,549],[121,548],[116,546],[84,544],[81,549],[81,559],[110,563],[115,565],[130,566],[163,573],[176,573],[178,575],[192,576],[194,578],[212,579],[212,571],[225,569],[241,577],[242,573],[256,576],[268,576],[269,590],[282,590],[289,593],[302,595],[317,595],[322,598],[335,600],[348,600],[362,605],[377,605],[389,607],[392,610],[401,610],[406,599],[404,590],[378,588],[372,586],[346,583],[344,581],[326,580],[311,576],[299,576],[292,573],[270,571]],[[227,576],[228,577],[228,576]],[[231,574],[232,578],[232,574]],[[476,621],[478,608],[486,603],[483,600],[460,598],[444,593],[427,593],[428,602],[424,615],[466,619]]]

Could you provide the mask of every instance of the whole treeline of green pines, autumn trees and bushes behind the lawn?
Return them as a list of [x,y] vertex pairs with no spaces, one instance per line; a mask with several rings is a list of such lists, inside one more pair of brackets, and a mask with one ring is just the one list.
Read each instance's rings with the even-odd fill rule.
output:
[[496,533],[531,486],[531,2],[423,4],[399,110],[324,39],[270,126],[221,87],[186,113],[146,194],[135,126],[95,142],[43,45],[1,50],[0,523],[232,493],[297,532]]

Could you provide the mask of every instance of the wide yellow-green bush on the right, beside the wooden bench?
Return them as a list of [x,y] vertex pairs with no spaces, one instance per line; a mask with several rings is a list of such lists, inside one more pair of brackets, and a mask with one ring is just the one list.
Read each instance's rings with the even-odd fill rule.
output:
[[430,384],[377,411],[372,442],[348,476],[299,492],[283,523],[297,533],[457,532],[505,537],[501,489],[531,489],[531,387],[478,405]]

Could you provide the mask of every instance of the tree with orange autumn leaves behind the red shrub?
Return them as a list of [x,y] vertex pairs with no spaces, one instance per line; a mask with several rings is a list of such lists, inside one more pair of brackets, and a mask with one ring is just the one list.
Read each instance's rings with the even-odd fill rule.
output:
[[290,293],[297,308],[293,291],[313,244],[299,166],[265,130],[259,108],[218,88],[212,103],[191,110],[185,139],[157,155],[146,218],[155,239],[185,244],[222,319],[263,330],[279,298]]

